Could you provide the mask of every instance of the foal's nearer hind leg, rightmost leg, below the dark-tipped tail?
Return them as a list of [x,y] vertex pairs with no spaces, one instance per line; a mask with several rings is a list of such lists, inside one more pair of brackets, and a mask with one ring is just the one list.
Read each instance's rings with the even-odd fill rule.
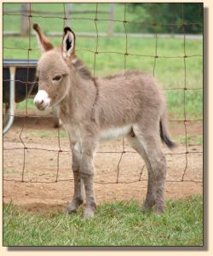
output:
[[[146,125],[135,125],[135,136],[143,143],[147,160],[150,164],[148,172],[152,172],[152,189],[155,192],[154,211],[164,212],[164,183],[166,178],[166,160],[160,148],[160,139],[158,136],[158,122],[151,124],[152,129]],[[147,200],[149,195],[147,193]],[[148,201],[145,201],[143,207],[147,207]]]

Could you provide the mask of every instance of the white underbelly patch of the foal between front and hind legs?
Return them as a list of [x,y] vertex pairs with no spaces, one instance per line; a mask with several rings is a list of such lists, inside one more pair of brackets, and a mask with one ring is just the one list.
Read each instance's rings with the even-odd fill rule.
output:
[[103,130],[103,131],[101,131],[100,140],[104,141],[104,140],[111,140],[116,137],[124,137],[128,133],[130,133],[131,127],[132,127],[132,125],[124,125],[121,127]]

